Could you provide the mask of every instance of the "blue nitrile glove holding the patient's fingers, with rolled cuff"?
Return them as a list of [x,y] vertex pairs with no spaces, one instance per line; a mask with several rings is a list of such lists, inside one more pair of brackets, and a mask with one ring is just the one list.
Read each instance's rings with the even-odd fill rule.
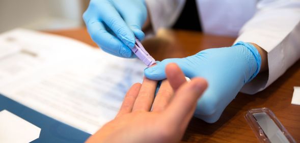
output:
[[208,81],[208,89],[198,101],[195,116],[214,123],[243,85],[258,74],[261,57],[253,45],[238,42],[232,47],[206,49],[186,58],[163,60],[145,69],[146,77],[165,79],[165,67],[169,63],[176,63],[189,78],[197,76]]

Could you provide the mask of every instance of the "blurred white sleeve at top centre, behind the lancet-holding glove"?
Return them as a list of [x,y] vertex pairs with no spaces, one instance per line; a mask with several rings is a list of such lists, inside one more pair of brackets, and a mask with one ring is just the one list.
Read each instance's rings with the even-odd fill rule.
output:
[[179,17],[185,0],[145,0],[154,32],[171,27]]

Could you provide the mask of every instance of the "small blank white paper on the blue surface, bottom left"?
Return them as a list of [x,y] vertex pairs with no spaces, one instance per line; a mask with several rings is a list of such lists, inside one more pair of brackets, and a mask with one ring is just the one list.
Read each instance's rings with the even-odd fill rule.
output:
[[41,129],[13,113],[0,111],[0,142],[28,143],[40,136]]

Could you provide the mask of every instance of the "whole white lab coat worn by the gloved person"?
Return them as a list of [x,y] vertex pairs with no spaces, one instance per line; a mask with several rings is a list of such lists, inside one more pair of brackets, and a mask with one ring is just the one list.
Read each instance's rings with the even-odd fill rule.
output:
[[[194,1],[194,0],[186,0]],[[154,31],[171,27],[185,0],[146,0]],[[196,0],[204,33],[238,36],[268,52],[268,75],[259,74],[241,92],[255,94],[300,58],[300,0]]]

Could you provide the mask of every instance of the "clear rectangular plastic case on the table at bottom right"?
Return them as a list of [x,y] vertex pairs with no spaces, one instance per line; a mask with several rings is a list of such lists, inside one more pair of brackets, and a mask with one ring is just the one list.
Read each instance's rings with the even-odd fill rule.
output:
[[296,142],[268,108],[248,110],[244,117],[260,142]]

